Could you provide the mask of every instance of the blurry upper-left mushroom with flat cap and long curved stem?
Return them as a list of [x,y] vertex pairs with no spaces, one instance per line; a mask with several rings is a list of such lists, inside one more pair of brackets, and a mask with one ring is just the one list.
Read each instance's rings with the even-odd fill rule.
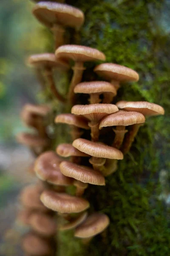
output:
[[36,68],[37,75],[42,79],[43,79],[42,72],[44,73],[45,79],[47,81],[48,86],[50,87],[51,93],[59,101],[65,102],[65,98],[59,93],[59,91],[56,88],[54,77],[53,77],[53,69],[57,68],[60,70],[67,70],[69,68],[68,63],[62,60],[57,60],[54,53],[42,53],[42,54],[31,55],[28,58],[27,62],[29,65]]

